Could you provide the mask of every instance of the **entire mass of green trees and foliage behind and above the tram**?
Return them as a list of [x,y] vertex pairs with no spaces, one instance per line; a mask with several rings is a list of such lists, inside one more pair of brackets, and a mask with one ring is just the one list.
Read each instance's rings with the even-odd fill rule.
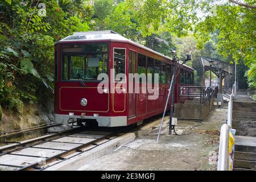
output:
[[[19,110],[24,102],[52,96],[54,43],[75,31],[113,30],[167,56],[174,47],[179,58],[191,53],[188,64],[196,69],[197,84],[199,55],[225,61],[231,55],[245,61],[249,86],[256,88],[255,11],[247,7],[216,0],[42,0],[46,16],[40,16],[38,2],[0,2],[0,105],[5,108]],[[197,17],[199,9],[204,18]]]

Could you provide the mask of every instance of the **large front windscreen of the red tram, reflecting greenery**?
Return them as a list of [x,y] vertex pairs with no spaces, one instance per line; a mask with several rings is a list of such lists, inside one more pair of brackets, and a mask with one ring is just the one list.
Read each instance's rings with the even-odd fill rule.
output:
[[61,59],[61,80],[97,80],[100,73],[107,73],[108,47],[102,44],[63,46]]

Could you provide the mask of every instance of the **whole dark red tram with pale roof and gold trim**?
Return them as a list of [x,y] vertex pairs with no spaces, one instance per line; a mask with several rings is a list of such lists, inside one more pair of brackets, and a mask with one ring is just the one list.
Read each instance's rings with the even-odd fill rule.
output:
[[[115,74],[124,73],[126,78],[116,80],[110,76],[111,69]],[[100,73],[109,76],[104,93],[97,89]],[[149,100],[152,94],[149,92],[127,92],[131,86],[129,73],[159,73],[158,98]],[[68,124],[73,118],[84,122],[94,119],[98,126],[104,127],[141,123],[143,119],[163,113],[171,76],[170,57],[113,31],[75,32],[55,44],[55,122]],[[118,88],[120,81],[127,84],[122,86],[123,92],[110,92]],[[148,78],[137,83],[140,90],[146,87],[147,81]],[[191,67],[180,67],[175,93],[179,85],[193,85]]]

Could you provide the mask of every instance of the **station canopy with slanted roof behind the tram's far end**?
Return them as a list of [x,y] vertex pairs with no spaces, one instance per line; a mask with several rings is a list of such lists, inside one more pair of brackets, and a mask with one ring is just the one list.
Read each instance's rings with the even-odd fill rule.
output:
[[211,70],[218,77],[220,77],[220,74],[222,77],[225,77],[234,73],[233,65],[225,63],[222,60],[214,59],[213,57],[200,56],[200,64],[204,67],[205,72]]

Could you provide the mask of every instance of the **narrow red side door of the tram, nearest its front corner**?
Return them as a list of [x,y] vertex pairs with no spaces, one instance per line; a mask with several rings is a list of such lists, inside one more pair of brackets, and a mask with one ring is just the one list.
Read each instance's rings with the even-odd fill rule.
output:
[[[135,65],[137,60],[137,52],[129,51],[129,73],[135,72]],[[132,90],[130,88],[133,88]],[[135,93],[135,81],[129,80],[129,92],[128,93],[128,117],[134,117],[136,115],[136,93]]]

